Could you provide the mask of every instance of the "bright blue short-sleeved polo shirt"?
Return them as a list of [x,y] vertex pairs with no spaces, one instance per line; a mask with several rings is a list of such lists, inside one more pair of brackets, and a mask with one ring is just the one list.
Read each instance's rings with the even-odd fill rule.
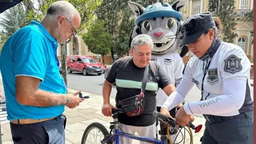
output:
[[9,121],[55,117],[64,112],[64,105],[24,106],[19,104],[15,98],[15,77],[18,75],[40,79],[40,90],[66,94],[63,78],[57,66],[57,48],[57,41],[37,21],[31,21],[30,25],[19,29],[6,41],[0,55],[0,70]]

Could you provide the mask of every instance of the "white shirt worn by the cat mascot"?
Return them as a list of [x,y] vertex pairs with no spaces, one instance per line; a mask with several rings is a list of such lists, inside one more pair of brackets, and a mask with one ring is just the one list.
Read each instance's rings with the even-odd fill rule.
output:
[[[181,56],[176,52],[166,53],[164,55],[152,55],[151,60],[160,64],[161,68],[170,77],[171,82],[175,85],[175,80],[182,78],[184,64]],[[156,106],[162,107],[168,96],[159,88],[156,94]]]

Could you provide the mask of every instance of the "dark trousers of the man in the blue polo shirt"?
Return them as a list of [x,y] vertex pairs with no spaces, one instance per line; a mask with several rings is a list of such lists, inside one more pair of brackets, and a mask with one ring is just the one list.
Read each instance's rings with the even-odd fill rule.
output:
[[10,123],[14,144],[65,144],[66,117],[32,124]]

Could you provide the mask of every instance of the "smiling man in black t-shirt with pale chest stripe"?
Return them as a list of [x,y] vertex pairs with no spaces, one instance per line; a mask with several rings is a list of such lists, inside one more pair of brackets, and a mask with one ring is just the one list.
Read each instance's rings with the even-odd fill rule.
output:
[[[104,116],[112,115],[112,108],[121,108],[118,101],[140,94],[144,69],[149,64],[151,59],[151,50],[154,44],[152,39],[144,34],[133,38],[130,48],[132,59],[128,60],[127,64],[116,73],[118,64],[122,59],[118,59],[111,67],[106,80],[103,84],[103,98],[102,114]],[[155,138],[156,137],[156,118],[153,112],[156,110],[156,92],[160,87],[169,96],[175,91],[175,86],[165,71],[160,68],[160,65],[154,63],[158,71],[159,81],[156,80],[155,75],[149,67],[149,75],[147,78],[147,85],[144,92],[144,111],[139,116],[128,117],[126,114],[118,116],[119,127],[125,133],[134,134],[137,132],[140,136]],[[116,82],[117,96],[116,107],[110,104],[110,93],[112,84]],[[182,106],[182,104],[177,107]],[[121,144],[132,144],[132,139],[120,137]],[[142,144],[148,144],[143,142]]]

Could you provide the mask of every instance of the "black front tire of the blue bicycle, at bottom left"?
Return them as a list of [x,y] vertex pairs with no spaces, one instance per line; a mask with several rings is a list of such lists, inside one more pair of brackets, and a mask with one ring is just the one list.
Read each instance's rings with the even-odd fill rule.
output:
[[[85,129],[85,132],[83,134],[83,137],[82,137],[82,141],[81,141],[81,144],[85,144],[84,142],[86,141],[86,138],[87,138],[87,133],[92,129],[92,128],[97,128],[101,131],[101,133],[103,133],[104,135],[104,138],[105,139],[106,137],[109,136],[109,132],[107,131],[107,128],[105,128],[104,125],[102,125],[101,123],[91,123],[86,129]],[[102,140],[103,140],[102,139]],[[111,141],[110,142],[107,142],[106,144],[113,144]]]

